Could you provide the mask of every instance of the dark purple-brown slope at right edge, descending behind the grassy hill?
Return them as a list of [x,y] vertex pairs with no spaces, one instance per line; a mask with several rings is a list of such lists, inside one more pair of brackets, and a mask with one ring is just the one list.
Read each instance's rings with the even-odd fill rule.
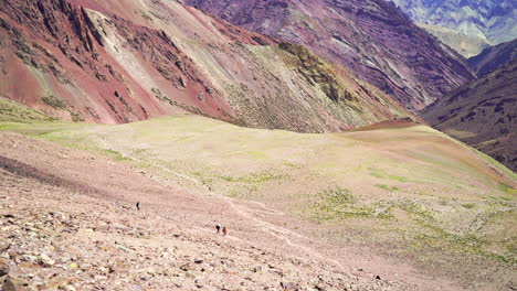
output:
[[517,171],[517,58],[455,89],[422,116]]

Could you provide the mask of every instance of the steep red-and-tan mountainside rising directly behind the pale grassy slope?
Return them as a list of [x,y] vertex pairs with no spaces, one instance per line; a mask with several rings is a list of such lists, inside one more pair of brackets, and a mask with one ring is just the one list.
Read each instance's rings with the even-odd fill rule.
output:
[[0,35],[0,95],[64,119],[188,110],[321,132],[409,116],[304,47],[176,1],[2,1]]

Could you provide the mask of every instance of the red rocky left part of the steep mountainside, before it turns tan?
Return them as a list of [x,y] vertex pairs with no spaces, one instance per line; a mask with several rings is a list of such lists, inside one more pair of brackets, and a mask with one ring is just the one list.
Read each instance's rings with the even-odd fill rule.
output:
[[145,88],[104,47],[86,9],[64,0],[0,3],[0,93],[48,114],[120,123],[179,108],[221,119],[232,110],[162,31],[118,17],[126,48],[159,86]]

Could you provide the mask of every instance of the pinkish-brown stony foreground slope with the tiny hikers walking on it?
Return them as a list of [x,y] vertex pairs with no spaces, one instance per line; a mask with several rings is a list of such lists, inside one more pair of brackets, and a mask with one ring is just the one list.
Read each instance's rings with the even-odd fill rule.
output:
[[[0,134],[6,291],[423,289],[341,266],[232,200]],[[228,236],[215,234],[217,223],[229,226]]]

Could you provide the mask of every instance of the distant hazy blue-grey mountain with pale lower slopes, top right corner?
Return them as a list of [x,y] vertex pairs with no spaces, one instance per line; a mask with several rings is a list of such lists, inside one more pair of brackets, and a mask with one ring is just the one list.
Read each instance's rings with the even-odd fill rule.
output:
[[466,57],[517,39],[517,2],[513,0],[391,1]]

